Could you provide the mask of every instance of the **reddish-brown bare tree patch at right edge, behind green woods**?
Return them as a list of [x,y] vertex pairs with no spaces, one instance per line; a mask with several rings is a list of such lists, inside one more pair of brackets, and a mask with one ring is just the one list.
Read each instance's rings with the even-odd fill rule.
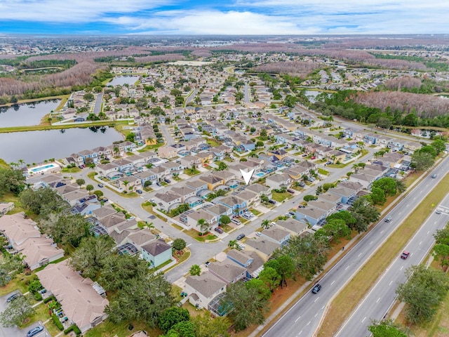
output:
[[447,114],[449,111],[448,99],[419,93],[403,93],[401,91],[358,93],[354,100],[356,103],[368,107],[378,107],[381,110],[390,107],[391,110],[397,109],[406,113],[416,112],[417,116],[424,118]]

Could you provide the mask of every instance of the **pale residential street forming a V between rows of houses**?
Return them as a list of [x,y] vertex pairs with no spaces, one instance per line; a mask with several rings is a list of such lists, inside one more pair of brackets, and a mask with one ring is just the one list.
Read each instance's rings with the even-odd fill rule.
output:
[[[362,157],[361,159],[358,159],[358,161],[368,161],[369,159],[373,158],[373,153],[375,152],[373,149],[369,148],[368,151],[370,151],[370,154]],[[323,166],[324,167],[324,166]],[[326,168],[328,169],[328,168]],[[341,178],[342,176],[345,176],[347,172],[351,171],[351,165],[348,165],[347,167],[344,167],[343,169],[328,169],[330,172],[330,175],[327,178],[324,178],[319,182],[318,185],[322,185],[323,183],[333,183],[338,178]],[[80,173],[73,173],[72,177],[74,178],[83,178],[86,180],[86,183],[88,181],[91,181],[90,178],[88,178],[87,174],[91,172],[90,169],[83,169]],[[194,176],[192,180],[196,180],[198,176]],[[178,185],[185,184],[186,180],[183,180],[182,182],[177,183]],[[96,186],[97,183],[94,184]],[[173,185],[173,184],[172,184]],[[262,220],[268,219],[272,220],[276,218],[279,215],[283,215],[285,213],[288,213],[290,209],[293,209],[297,204],[299,204],[300,201],[302,201],[302,198],[306,194],[314,194],[316,185],[312,185],[311,187],[308,187],[307,190],[304,190],[302,193],[298,193],[290,199],[289,201],[286,201],[283,204],[280,204],[276,207],[276,209],[273,209],[272,211],[269,211],[268,213],[265,213],[264,215],[258,217],[257,219],[253,220],[252,222],[244,225],[240,229],[232,232],[232,234],[222,234],[220,237],[222,237],[222,240],[210,244],[197,242],[196,240],[192,239],[192,237],[189,237],[187,234],[180,232],[175,227],[168,225],[167,223],[163,222],[159,218],[150,219],[149,216],[152,216],[152,214],[148,213],[142,207],[140,206],[142,202],[152,199],[154,197],[154,194],[159,192],[160,190],[163,190],[164,187],[156,187],[159,190],[155,190],[153,192],[144,192],[144,194],[140,195],[138,198],[124,198],[116,194],[115,192],[112,192],[111,190],[108,190],[107,188],[102,188],[102,191],[105,193],[105,197],[107,197],[110,201],[113,201],[116,204],[119,204],[124,209],[130,211],[130,213],[133,213],[135,216],[142,220],[147,220],[149,222],[152,222],[154,227],[156,227],[158,230],[161,230],[164,234],[168,235],[169,237],[173,238],[182,238],[185,239],[187,242],[187,245],[189,245],[189,249],[192,252],[192,256],[189,258],[189,261],[187,263],[182,263],[181,265],[173,268],[172,270],[168,271],[166,273],[166,277],[170,282],[175,281],[176,279],[179,279],[180,277],[184,276],[189,272],[190,266],[193,264],[201,265],[201,263],[205,263],[210,258],[214,258],[217,253],[220,253],[224,249],[227,248],[227,244],[229,243],[229,240],[236,239],[238,234],[245,234],[248,236],[248,234],[251,234],[257,228],[261,227]],[[165,187],[166,188],[166,187]],[[215,234],[215,233],[214,233]]]

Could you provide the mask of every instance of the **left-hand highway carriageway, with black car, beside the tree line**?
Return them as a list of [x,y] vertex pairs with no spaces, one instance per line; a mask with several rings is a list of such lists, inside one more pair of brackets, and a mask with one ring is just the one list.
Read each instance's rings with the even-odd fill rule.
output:
[[[441,180],[443,174],[448,170],[448,165],[449,157],[445,158],[435,169],[435,172],[438,173],[436,179],[430,178],[430,176],[424,178],[421,183],[388,213],[392,217],[390,223],[385,223],[384,218],[380,219],[380,223],[368,232],[358,244],[352,247],[319,280],[319,284],[323,287],[319,293],[313,294],[310,291],[305,293],[263,336],[313,336],[319,326],[326,304],[349,282],[353,275],[366,263],[366,260],[384,243],[388,235],[394,232],[396,227],[400,225],[401,219],[406,218],[413,211],[413,205],[420,202],[434,185]],[[363,335],[350,333],[349,335],[342,336]]]

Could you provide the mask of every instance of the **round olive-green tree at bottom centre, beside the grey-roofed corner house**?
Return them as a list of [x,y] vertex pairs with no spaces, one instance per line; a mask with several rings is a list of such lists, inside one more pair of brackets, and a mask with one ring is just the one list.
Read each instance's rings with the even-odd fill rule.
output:
[[221,305],[234,322],[236,331],[253,324],[262,324],[264,313],[269,310],[268,300],[261,298],[257,289],[247,288],[243,282],[229,284]]

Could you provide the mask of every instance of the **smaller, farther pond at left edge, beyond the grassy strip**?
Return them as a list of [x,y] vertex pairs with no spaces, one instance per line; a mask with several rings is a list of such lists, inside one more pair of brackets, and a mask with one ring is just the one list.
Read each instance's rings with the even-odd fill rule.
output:
[[59,103],[60,100],[40,100],[0,107],[0,128],[39,125],[42,117],[55,110]]

